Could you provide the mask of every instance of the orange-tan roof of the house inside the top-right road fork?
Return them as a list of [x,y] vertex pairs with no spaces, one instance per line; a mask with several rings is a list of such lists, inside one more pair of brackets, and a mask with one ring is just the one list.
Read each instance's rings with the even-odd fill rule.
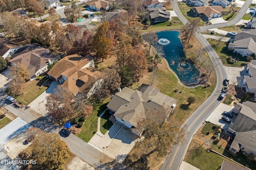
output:
[[193,7],[198,14],[204,14],[207,17],[212,17],[210,14],[221,14],[223,12],[222,6],[198,6]]

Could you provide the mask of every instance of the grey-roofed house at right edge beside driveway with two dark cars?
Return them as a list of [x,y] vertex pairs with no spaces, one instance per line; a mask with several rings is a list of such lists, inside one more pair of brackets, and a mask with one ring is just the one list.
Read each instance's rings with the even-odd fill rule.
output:
[[245,155],[255,155],[256,113],[248,106],[256,109],[256,103],[253,102],[238,102],[233,109],[233,113],[238,115],[228,128],[228,132],[235,136],[229,150],[233,153],[242,151]]

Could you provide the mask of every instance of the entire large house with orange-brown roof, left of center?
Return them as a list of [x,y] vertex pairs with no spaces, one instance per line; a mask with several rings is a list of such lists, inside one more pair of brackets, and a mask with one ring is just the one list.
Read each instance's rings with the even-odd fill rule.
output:
[[59,82],[73,94],[81,92],[90,97],[103,81],[102,73],[94,68],[92,57],[68,55],[58,61],[48,72],[49,77]]

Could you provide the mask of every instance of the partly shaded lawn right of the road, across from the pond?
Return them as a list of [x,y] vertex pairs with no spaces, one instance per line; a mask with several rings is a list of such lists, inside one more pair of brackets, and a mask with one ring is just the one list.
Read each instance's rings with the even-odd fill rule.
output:
[[[207,39],[207,41],[210,43],[212,47],[218,43],[217,40],[212,40],[212,39]],[[216,51],[216,53],[220,57],[222,64],[225,66],[232,66],[232,67],[244,66],[246,63],[246,57],[241,57],[240,55],[235,55],[234,53],[223,50],[222,48],[225,46],[226,46],[225,43],[223,41],[220,41],[219,45],[214,47],[214,51]],[[232,56],[233,59],[234,58],[239,59],[239,61],[234,64],[228,64],[228,56]]]

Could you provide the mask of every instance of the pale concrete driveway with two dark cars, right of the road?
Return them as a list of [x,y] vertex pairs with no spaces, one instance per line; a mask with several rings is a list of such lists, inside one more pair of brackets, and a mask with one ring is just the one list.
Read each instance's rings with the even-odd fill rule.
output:
[[[206,121],[209,121],[213,124],[221,125],[222,129],[228,129],[230,123],[227,123],[226,121],[223,121],[221,117],[223,116],[224,111],[231,111],[234,108],[234,106],[228,106],[226,104],[220,103],[213,111],[212,113],[206,118]],[[236,115],[234,117],[229,118],[231,122],[234,122],[236,119]]]

